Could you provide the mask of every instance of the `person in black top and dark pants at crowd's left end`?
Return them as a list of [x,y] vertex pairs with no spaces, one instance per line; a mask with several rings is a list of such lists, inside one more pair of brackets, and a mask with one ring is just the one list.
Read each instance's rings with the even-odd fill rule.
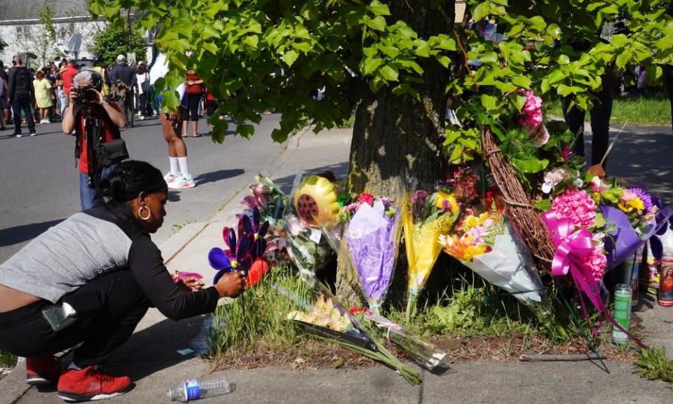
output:
[[36,135],[35,122],[31,102],[35,98],[33,88],[33,78],[28,69],[23,67],[23,61],[20,56],[15,56],[16,65],[9,71],[8,102],[14,111],[14,135],[21,137],[21,110],[26,116],[28,124],[28,133],[31,136]]

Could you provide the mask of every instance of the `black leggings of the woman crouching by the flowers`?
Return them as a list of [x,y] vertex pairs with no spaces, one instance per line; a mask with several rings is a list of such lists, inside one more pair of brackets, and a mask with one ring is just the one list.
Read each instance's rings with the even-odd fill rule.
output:
[[128,270],[99,276],[61,302],[70,304],[79,319],[59,332],[42,316],[41,310],[51,304],[46,300],[0,313],[0,349],[17,356],[42,356],[82,343],[74,351],[74,363],[100,365],[129,339],[149,308]]

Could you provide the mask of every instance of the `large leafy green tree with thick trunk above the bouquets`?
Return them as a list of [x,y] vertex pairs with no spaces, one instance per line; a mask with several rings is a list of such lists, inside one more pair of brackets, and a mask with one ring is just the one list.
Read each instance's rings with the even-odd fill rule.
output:
[[[161,25],[156,44],[171,72],[158,86],[175,88],[195,69],[221,100],[219,113],[236,118],[239,135],[252,136],[250,121],[271,107],[282,114],[277,142],[308,124],[316,133],[337,126],[355,109],[348,189],[386,195],[404,173],[430,184],[449,162],[475,159],[483,124],[502,141],[500,118],[522,107],[519,89],[589,109],[612,66],[660,74],[658,65],[672,62],[670,5],[468,0],[461,22],[454,0],[91,0],[90,11],[119,23],[121,8],[135,8],[144,29]],[[503,41],[470,24],[487,18]],[[605,41],[604,23],[616,21],[629,33]],[[313,100],[311,91],[323,87],[324,99]],[[164,97],[165,108],[177,106],[175,93]],[[461,127],[444,123],[449,98]],[[226,122],[211,123],[222,142]],[[546,163],[515,166],[536,173]]]

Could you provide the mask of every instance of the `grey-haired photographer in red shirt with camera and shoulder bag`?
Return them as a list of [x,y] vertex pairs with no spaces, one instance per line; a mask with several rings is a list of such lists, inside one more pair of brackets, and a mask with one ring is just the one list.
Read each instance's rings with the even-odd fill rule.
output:
[[73,129],[76,132],[75,158],[79,159],[82,210],[102,206],[102,197],[95,187],[97,180],[107,177],[117,163],[128,158],[119,131],[126,126],[126,120],[118,105],[105,101],[102,85],[102,77],[93,69],[76,74],[61,123],[63,133],[72,133]]

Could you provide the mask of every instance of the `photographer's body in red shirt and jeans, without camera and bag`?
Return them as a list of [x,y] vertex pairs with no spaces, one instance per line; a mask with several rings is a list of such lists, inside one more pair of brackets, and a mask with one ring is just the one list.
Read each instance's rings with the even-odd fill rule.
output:
[[[97,188],[90,186],[88,180],[89,161],[87,156],[86,133],[84,128],[84,112],[82,102],[77,102],[78,88],[95,96],[90,98],[90,108],[86,112],[100,119],[100,142],[106,143],[118,139],[119,129],[125,128],[126,119],[121,113],[121,108],[114,102],[107,102],[101,94],[102,77],[93,69],[83,69],[74,76],[73,86],[69,92],[69,105],[65,110],[61,129],[63,133],[70,134],[75,130],[77,137],[76,157],[79,159],[79,197],[82,210],[95,208],[103,205],[103,199]],[[78,105],[79,104],[79,105]],[[97,162],[96,162],[97,163]],[[114,169],[117,162],[108,166],[100,166],[100,179],[107,177]]]

